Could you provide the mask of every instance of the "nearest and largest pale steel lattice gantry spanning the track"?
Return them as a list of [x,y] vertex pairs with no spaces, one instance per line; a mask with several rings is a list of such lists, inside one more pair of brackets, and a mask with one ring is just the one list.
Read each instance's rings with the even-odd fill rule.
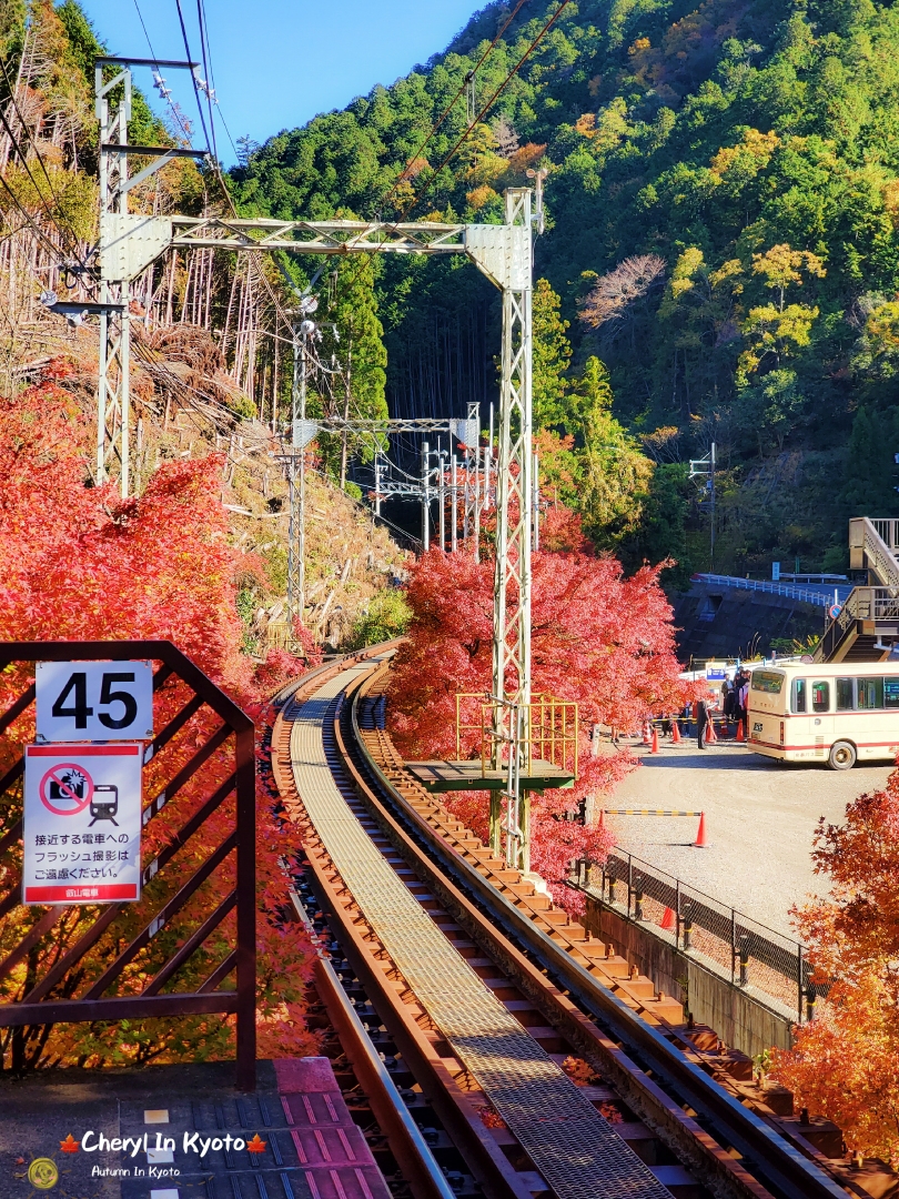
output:
[[[97,475],[107,477],[110,446],[120,458],[122,494],[129,487],[128,296],[135,279],[169,247],[233,252],[286,251],[343,257],[370,254],[465,254],[502,293],[497,526],[494,578],[493,703],[495,743],[508,746],[509,785],[505,831],[507,856],[526,869],[526,829],[519,820],[518,771],[523,725],[531,699],[531,546],[532,546],[532,216],[530,188],[506,192],[502,224],[394,223],[385,221],[277,221],[227,216],[144,216],[128,212],[128,193],[175,155],[192,150],[129,146],[131,66],[143,59],[97,60],[97,116],[101,121],[101,221],[97,258],[102,300],[101,380],[97,411]],[[103,80],[103,67],[117,74]],[[109,92],[121,86],[117,114],[109,118]],[[115,138],[115,141],[111,140]],[[128,179],[128,153],[153,157]],[[115,177],[113,179],[113,173]],[[300,388],[295,388],[295,396]],[[298,412],[296,414],[300,415]],[[304,415],[304,414],[303,414]],[[390,422],[387,422],[390,423]],[[302,434],[300,440],[302,441]],[[295,439],[291,439],[295,440]],[[302,453],[302,448],[300,451]],[[298,572],[297,572],[298,573]],[[300,579],[297,579],[300,583]],[[496,827],[496,813],[494,827]],[[494,840],[496,842],[496,833]]]

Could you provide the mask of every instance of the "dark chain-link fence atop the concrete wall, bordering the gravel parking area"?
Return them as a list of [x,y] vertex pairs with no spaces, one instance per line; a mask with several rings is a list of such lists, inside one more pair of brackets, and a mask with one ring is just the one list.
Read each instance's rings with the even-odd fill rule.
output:
[[[802,1024],[816,988],[804,947],[719,903],[633,854],[610,854],[602,866],[573,863],[572,881],[630,920],[654,926],[680,950],[706,958],[735,986],[776,1000]],[[820,988],[819,988],[820,989]]]

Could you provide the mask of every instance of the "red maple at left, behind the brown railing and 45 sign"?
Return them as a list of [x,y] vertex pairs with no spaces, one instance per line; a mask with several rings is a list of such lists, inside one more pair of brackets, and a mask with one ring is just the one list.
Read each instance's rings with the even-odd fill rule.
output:
[[[261,667],[241,652],[241,623],[235,604],[235,577],[255,564],[229,544],[227,513],[219,501],[219,456],[162,465],[139,499],[121,500],[111,487],[86,486],[85,458],[91,429],[80,405],[66,392],[66,368],[52,364],[47,376],[13,399],[0,400],[0,639],[168,639],[197,663],[261,728],[267,695],[280,682],[302,673],[291,655],[270,655]],[[28,664],[0,674],[0,707],[8,706],[32,677]],[[156,727],[165,723],[189,698],[170,680],[156,694]],[[153,758],[145,770],[145,789],[155,794],[205,743],[218,719],[201,709]],[[34,736],[34,716],[17,721],[0,740],[0,767],[6,769]],[[312,974],[313,948],[301,924],[285,922],[282,860],[300,850],[292,825],[278,818],[267,751],[260,745],[258,785],[258,1023],[259,1052],[302,1053],[314,1047],[306,1026],[304,987]],[[218,749],[201,776],[165,805],[146,826],[144,860],[150,861],[182,827],[211,791],[230,775],[231,752]],[[0,832],[18,818],[20,791],[0,797]],[[234,801],[227,801],[191,838],[165,870],[145,887],[145,900],[129,905],[114,923],[115,935],[133,935],[147,911],[174,894],[199,861],[228,835]],[[234,855],[211,875],[193,899],[165,924],[121,976],[120,990],[139,992],[159,965],[195,929],[234,884]],[[12,885],[14,863],[0,867],[0,884]],[[0,922],[0,956],[5,956],[42,915],[16,908]],[[42,963],[74,944],[96,911],[71,909],[43,938],[26,963],[0,982],[0,994],[20,998]],[[234,912],[177,976],[192,989],[228,952],[234,941]],[[97,977],[117,952],[113,933],[101,938],[83,959],[80,976],[61,996],[77,994]],[[0,1052],[8,1049],[8,1034]],[[219,1017],[143,1020],[116,1025],[56,1025],[37,1032],[28,1044],[30,1065],[171,1060],[222,1056],[234,1050],[234,1024]]]

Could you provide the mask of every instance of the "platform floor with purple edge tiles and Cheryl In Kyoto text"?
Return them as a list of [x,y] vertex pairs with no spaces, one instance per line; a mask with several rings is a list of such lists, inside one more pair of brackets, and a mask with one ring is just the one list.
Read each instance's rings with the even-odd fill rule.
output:
[[[258,1073],[253,1095],[235,1090],[233,1062],[0,1077],[0,1195],[390,1199],[327,1058]],[[29,1181],[36,1158],[55,1185]]]

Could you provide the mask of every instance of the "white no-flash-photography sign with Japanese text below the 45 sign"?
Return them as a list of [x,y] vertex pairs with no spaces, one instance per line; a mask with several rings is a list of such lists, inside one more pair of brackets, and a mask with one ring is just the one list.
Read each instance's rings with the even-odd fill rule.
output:
[[140,745],[25,746],[25,904],[140,898]]

